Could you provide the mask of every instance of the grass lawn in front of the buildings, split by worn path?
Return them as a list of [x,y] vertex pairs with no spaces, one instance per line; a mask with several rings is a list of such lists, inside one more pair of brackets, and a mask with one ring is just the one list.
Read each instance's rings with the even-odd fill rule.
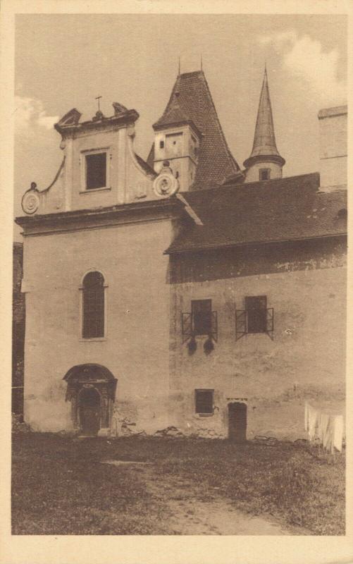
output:
[[166,498],[144,472],[102,460],[151,462],[154,483],[179,477],[204,501],[217,495],[252,515],[271,514],[312,534],[345,534],[345,456],[306,444],[121,437],[13,436],[13,534],[171,534]]

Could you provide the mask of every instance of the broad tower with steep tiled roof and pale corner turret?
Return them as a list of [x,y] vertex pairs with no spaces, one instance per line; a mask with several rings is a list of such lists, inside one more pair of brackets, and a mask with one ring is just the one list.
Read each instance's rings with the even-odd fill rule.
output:
[[214,188],[227,178],[242,178],[203,71],[178,75],[163,116],[153,128],[154,145],[147,163],[157,174],[169,167],[181,191]]

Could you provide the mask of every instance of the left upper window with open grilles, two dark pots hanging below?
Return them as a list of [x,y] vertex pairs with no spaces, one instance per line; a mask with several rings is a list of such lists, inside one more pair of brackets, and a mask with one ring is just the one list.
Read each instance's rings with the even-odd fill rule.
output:
[[191,312],[182,313],[182,343],[197,335],[208,335],[217,341],[217,312],[211,300],[192,300]]

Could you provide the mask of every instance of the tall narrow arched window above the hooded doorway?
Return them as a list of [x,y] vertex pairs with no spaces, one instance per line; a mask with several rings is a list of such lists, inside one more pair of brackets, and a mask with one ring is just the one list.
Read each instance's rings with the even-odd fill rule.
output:
[[89,272],[83,278],[82,337],[104,337],[104,277]]

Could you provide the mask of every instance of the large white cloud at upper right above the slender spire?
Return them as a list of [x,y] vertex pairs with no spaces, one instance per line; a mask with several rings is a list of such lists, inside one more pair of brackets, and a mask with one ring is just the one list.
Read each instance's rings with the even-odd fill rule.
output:
[[304,81],[318,97],[320,104],[344,104],[347,85],[338,80],[340,53],[337,49],[323,51],[321,42],[309,35],[299,36],[294,30],[259,37],[259,43],[272,45],[283,53],[283,65],[292,75]]

